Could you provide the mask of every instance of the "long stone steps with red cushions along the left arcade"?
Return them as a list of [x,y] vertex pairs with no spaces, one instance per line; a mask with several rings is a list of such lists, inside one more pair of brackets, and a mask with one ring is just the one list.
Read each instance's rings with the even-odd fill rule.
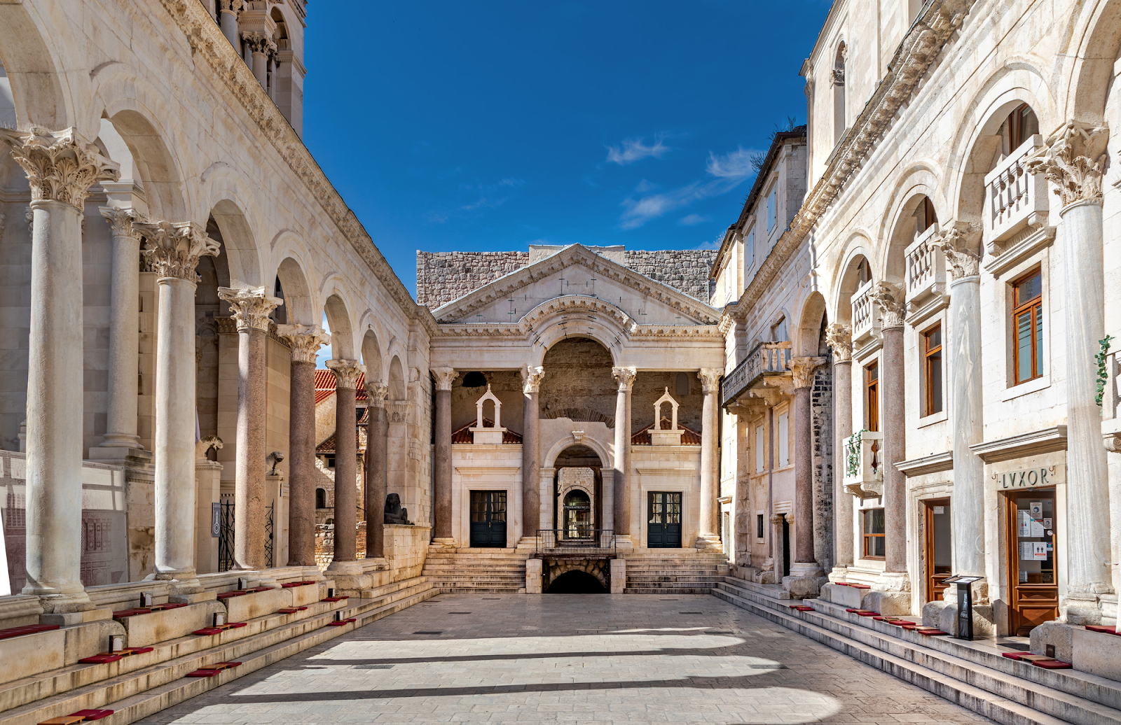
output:
[[[269,612],[244,620],[247,627],[221,634],[188,634],[155,642],[152,651],[115,662],[70,665],[3,682],[0,725],[36,725],[83,709],[111,709],[113,714],[101,722],[127,725],[439,592],[424,576],[416,576],[369,593],[369,599],[316,601],[294,613]],[[336,611],[343,619],[355,621],[330,625]],[[0,650],[19,639],[24,638],[3,640]],[[195,669],[223,661],[241,665],[222,670],[216,677],[185,677]]]

